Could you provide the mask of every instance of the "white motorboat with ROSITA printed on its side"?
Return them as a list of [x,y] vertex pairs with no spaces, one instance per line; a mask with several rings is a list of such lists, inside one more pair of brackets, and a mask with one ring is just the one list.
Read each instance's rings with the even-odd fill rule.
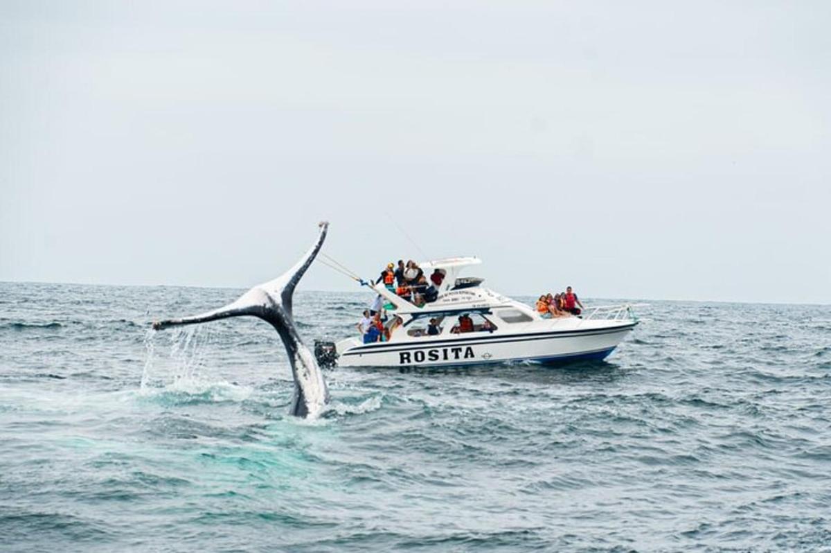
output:
[[[630,304],[588,308],[579,317],[543,318],[528,305],[484,288],[483,279],[460,277],[463,269],[480,263],[462,257],[420,264],[425,274],[438,269],[445,277],[436,287],[435,301],[420,307],[383,285],[367,284],[392,308],[387,310],[389,338],[373,343],[364,343],[361,336],[334,344],[318,342],[318,360],[341,367],[598,360],[612,353],[638,323]],[[466,331],[460,332],[457,320],[463,315],[472,324],[468,320]],[[430,319],[435,319],[432,334]]]

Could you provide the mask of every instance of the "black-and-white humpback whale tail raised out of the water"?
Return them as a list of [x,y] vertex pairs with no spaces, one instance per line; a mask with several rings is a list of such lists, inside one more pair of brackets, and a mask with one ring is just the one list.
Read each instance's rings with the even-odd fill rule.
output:
[[292,298],[297,283],[320,251],[329,224],[320,223],[317,242],[291,269],[277,279],[258,284],[236,301],[222,308],[192,317],[156,321],[153,328],[161,330],[183,324],[207,323],[220,318],[258,317],[270,323],[283,339],[294,378],[291,414],[296,417],[317,417],[329,401],[329,391],[320,367],[302,343],[292,315]]

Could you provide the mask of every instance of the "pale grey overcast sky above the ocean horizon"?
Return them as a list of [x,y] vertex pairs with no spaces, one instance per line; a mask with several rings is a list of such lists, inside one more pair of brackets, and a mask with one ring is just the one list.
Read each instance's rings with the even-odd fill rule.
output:
[[4,0],[0,280],[243,288],[327,219],[367,276],[468,254],[507,294],[831,303],[829,29],[808,1]]

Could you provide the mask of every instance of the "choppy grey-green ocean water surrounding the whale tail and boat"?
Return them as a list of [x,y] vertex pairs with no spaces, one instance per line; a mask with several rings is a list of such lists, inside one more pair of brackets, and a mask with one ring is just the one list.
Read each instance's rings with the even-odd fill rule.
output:
[[[651,302],[562,368],[336,368],[310,422],[268,324],[149,331],[240,292],[0,284],[0,551],[831,551],[831,307]],[[307,344],[369,299],[298,293]]]

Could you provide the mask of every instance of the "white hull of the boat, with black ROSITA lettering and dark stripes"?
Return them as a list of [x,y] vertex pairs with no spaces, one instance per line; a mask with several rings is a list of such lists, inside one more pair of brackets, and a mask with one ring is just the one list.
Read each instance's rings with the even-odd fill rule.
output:
[[542,364],[606,358],[637,323],[523,334],[456,334],[445,339],[367,343],[346,348],[341,367],[441,367],[482,363]]

